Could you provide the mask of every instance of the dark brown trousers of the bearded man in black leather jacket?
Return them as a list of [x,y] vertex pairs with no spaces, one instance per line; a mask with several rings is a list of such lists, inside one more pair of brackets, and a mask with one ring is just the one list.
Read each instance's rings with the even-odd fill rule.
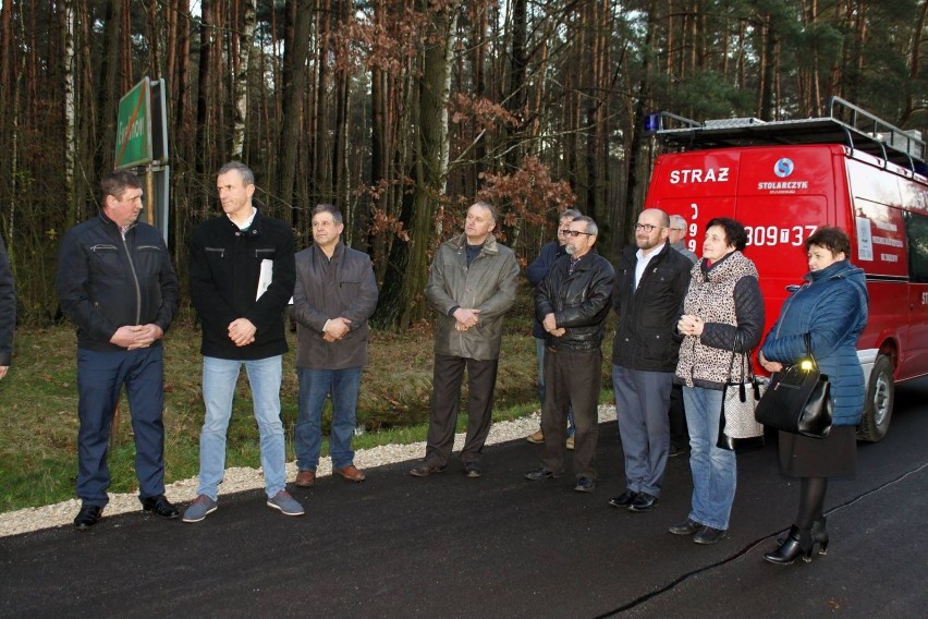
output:
[[566,456],[567,410],[574,411],[574,474],[596,480],[596,442],[599,438],[599,390],[602,351],[545,350],[545,403],[541,466],[562,471]]

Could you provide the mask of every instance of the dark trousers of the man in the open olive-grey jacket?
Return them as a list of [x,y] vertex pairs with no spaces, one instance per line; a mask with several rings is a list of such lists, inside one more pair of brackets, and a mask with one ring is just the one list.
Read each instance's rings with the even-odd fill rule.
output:
[[467,369],[467,437],[461,450],[464,465],[477,464],[490,434],[493,416],[493,389],[499,360],[477,361],[463,356],[435,355],[432,371],[431,417],[428,424],[426,461],[443,466],[454,447],[454,428],[461,403],[461,384]]

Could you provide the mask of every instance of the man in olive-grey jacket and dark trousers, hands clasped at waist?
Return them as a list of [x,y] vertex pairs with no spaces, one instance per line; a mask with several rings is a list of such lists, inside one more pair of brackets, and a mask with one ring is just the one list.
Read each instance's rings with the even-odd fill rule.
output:
[[518,263],[490,233],[497,215],[477,202],[467,209],[464,233],[441,244],[429,270],[426,299],[438,311],[435,325],[432,408],[425,459],[410,471],[425,477],[448,466],[454,445],[461,383],[467,368],[467,438],[464,474],[479,477],[490,432],[503,316],[515,302]]

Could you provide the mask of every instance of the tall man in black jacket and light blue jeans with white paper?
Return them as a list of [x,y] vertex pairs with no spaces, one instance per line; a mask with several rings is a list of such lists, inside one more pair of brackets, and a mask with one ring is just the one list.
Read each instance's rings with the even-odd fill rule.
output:
[[258,422],[267,505],[302,515],[286,491],[283,424],[280,421],[283,311],[295,279],[293,231],[252,205],[255,175],[239,161],[216,177],[223,215],[197,227],[191,240],[191,300],[203,326],[203,399],[197,498],[184,522],[217,509],[225,472],[225,430],[242,365],[248,373]]

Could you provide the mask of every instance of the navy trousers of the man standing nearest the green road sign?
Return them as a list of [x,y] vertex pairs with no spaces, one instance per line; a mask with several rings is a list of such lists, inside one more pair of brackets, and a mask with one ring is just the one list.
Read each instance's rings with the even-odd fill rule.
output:
[[163,348],[114,352],[77,350],[77,496],[83,505],[109,502],[110,426],[125,385],[135,434],[139,498],[164,493]]

